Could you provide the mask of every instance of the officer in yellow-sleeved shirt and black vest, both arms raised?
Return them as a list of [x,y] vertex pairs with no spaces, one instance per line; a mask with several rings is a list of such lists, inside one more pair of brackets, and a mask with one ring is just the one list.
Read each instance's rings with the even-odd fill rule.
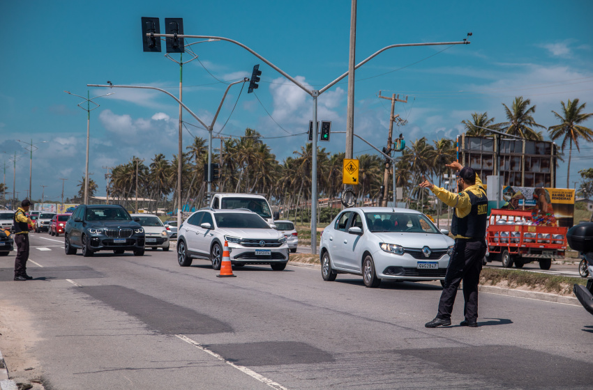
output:
[[453,302],[459,283],[463,280],[465,320],[463,327],[477,327],[478,282],[482,270],[482,259],[486,255],[486,221],[488,220],[488,198],[482,182],[474,169],[463,167],[458,162],[446,164],[458,170],[458,194],[438,188],[426,178],[420,187],[430,188],[443,203],[455,208],[451,219],[451,233],[455,245],[449,266],[446,269],[443,292],[439,301],[437,317],[426,323],[427,328],[451,325]]

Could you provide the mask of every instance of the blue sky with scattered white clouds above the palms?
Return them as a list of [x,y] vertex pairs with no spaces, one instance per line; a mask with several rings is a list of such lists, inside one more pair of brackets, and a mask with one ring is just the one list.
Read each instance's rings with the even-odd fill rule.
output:
[[[321,89],[348,69],[351,1],[2,1],[3,55],[0,61],[0,167],[13,192],[29,189],[33,147],[33,198],[59,201],[77,194],[84,175],[87,111],[83,100],[100,105],[90,115],[89,175],[105,194],[106,167],[146,164],[156,153],[177,154],[179,105],[165,93],[87,84],[156,86],[179,94],[179,65],[162,53],[142,51],[141,17],[182,17],[188,35],[221,36],[241,42],[310,89]],[[389,130],[389,100],[396,93],[396,126],[408,143],[455,138],[462,120],[488,112],[504,122],[504,107],[516,96],[536,106],[534,118],[546,128],[559,122],[551,111],[578,98],[593,112],[592,1],[358,1],[356,63],[388,45],[458,42],[470,45],[389,49],[356,70],[354,133],[381,148]],[[188,42],[197,42],[190,39]],[[282,162],[306,145],[313,100],[269,65],[230,42],[193,45],[197,59],[183,66],[183,102],[211,123],[227,84],[250,77],[260,64],[262,81],[255,93],[243,83],[230,87],[214,134],[239,137],[257,130]],[[179,61],[179,54],[171,54]],[[190,59],[183,54],[183,61]],[[347,78],[322,93],[318,119],[344,131]],[[248,83],[247,83],[248,84]],[[84,104],[83,104],[84,105]],[[183,148],[207,131],[189,114]],[[223,127],[224,125],[224,127]],[[587,127],[593,127],[588,120]],[[541,129],[539,129],[541,130]],[[296,134],[296,135],[294,135]],[[544,138],[549,140],[547,130]],[[19,142],[24,141],[24,142]],[[43,142],[45,141],[45,142]],[[345,134],[332,134],[320,148],[345,150]],[[216,139],[213,147],[220,146]],[[354,139],[354,155],[376,153]],[[566,150],[566,155],[568,150]],[[593,166],[593,143],[573,150],[570,187],[578,171]],[[566,187],[566,162],[557,170],[557,187]],[[6,178],[4,178],[6,177]],[[42,187],[46,186],[46,187]]]

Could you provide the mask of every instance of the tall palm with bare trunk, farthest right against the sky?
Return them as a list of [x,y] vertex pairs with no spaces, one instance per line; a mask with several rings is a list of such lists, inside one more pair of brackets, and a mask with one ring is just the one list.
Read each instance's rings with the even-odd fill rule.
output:
[[556,111],[552,112],[561,123],[560,125],[550,126],[548,128],[552,141],[563,137],[561,146],[562,151],[564,151],[564,148],[566,147],[566,141],[569,141],[569,166],[568,172],[566,173],[566,188],[569,188],[570,182],[572,144],[574,143],[576,149],[580,152],[578,146],[580,138],[585,139],[585,141],[593,141],[593,131],[588,127],[579,125],[579,123],[583,123],[593,114],[583,114],[586,103],[583,103],[580,106],[578,103],[578,99],[573,101],[569,99],[567,104],[560,102],[560,104],[562,104],[562,115],[558,114]]

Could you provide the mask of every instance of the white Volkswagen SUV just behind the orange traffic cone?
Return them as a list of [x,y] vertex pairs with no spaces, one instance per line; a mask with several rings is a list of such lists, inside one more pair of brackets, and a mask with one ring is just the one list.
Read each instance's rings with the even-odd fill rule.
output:
[[269,264],[272,270],[281,271],[288,263],[286,237],[255,212],[202,208],[179,226],[179,265],[188,267],[193,258],[203,258],[220,270],[225,241],[232,265]]

